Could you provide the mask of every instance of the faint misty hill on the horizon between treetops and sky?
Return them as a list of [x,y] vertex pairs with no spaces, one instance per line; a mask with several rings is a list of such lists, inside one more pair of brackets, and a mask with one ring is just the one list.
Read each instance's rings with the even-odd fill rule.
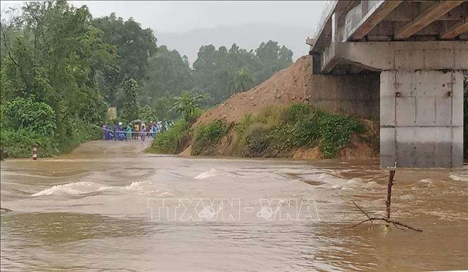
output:
[[310,36],[312,27],[289,25],[220,25],[213,28],[199,28],[183,33],[169,33],[155,31],[158,46],[165,45],[176,49],[194,63],[198,49],[203,45],[213,44],[216,47],[226,46],[229,50],[233,43],[247,50],[258,48],[263,41],[270,39],[278,41],[293,51],[293,60],[307,55],[309,46],[305,39]]

